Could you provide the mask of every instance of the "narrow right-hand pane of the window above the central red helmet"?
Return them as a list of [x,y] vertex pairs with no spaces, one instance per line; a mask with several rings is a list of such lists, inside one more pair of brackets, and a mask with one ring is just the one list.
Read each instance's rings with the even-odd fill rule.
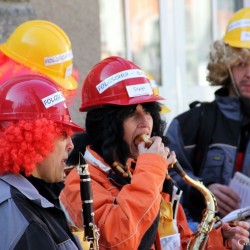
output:
[[161,84],[159,5],[156,0],[127,1],[131,59]]

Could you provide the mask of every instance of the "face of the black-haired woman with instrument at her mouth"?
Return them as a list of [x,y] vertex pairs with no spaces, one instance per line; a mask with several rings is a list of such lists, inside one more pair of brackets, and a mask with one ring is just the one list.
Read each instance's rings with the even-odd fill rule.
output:
[[135,111],[124,120],[124,141],[127,142],[131,156],[138,157],[138,148],[135,145],[135,138],[140,134],[151,135],[153,129],[153,118],[149,112],[144,110],[141,104],[136,106]]

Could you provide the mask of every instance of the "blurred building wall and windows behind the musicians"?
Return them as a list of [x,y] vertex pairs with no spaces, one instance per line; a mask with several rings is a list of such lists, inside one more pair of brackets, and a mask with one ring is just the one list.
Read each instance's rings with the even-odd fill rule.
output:
[[[74,65],[80,73],[77,98],[88,70],[110,55],[133,60],[159,85],[170,121],[194,100],[212,100],[206,81],[209,46],[220,39],[233,12],[250,0],[0,0],[0,42],[30,19],[46,19],[70,37]],[[49,43],[49,41],[48,41]]]

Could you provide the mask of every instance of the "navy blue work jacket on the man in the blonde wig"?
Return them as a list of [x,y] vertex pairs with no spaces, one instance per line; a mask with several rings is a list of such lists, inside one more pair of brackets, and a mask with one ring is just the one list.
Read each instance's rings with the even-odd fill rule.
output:
[[[179,163],[187,174],[200,179],[205,185],[220,183],[228,185],[235,172],[236,156],[239,148],[241,131],[248,127],[249,118],[241,112],[241,101],[238,97],[227,96],[226,89],[215,92],[217,112],[208,150],[204,154],[204,164],[194,167],[195,149],[198,141],[198,131],[201,124],[201,108],[192,108],[177,116],[167,130],[170,139],[169,148],[174,150]],[[242,172],[250,176],[250,143],[246,143]],[[199,221],[204,208],[201,194],[186,184],[175,172],[170,175],[176,185],[183,190],[183,206],[188,214]],[[202,204],[203,203],[203,204]]]

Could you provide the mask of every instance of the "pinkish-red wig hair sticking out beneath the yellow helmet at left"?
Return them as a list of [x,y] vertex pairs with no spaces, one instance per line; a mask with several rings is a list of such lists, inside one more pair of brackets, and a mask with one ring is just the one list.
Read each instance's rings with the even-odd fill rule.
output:
[[[37,72],[34,68],[28,68],[5,54],[3,54],[2,51],[0,51],[0,84],[4,83],[6,80],[10,79],[11,77],[14,76],[19,76],[19,75],[27,75],[27,74],[32,74],[32,75],[42,75],[41,73]],[[72,77],[78,81],[79,79],[79,73],[76,69],[73,69],[72,72]],[[60,91],[63,93],[65,96],[67,103],[70,104],[70,100],[76,97],[77,90],[67,90],[59,86]]]

